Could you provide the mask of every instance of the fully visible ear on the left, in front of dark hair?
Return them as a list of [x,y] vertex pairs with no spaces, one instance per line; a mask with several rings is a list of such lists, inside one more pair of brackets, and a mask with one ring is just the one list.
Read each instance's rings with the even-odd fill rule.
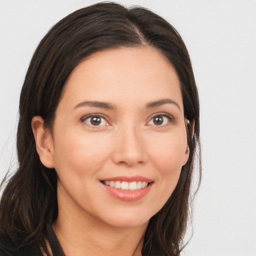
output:
[[34,134],[36,151],[45,167],[53,168],[53,140],[49,131],[44,128],[44,120],[41,116],[34,116],[31,121]]

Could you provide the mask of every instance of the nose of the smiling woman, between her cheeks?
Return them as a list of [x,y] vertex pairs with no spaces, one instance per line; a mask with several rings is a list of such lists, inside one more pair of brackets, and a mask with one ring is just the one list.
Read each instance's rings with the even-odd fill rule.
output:
[[133,166],[147,160],[142,131],[132,125],[119,127],[116,131],[112,159],[116,164]]

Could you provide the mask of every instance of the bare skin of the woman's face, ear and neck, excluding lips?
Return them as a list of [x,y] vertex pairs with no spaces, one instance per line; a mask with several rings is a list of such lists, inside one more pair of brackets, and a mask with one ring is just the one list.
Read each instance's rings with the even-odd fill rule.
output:
[[[91,124],[90,115],[101,116],[101,123]],[[40,116],[32,129],[42,163],[58,174],[53,228],[65,255],[141,255],[148,220],[171,195],[188,159],[175,69],[150,46],[97,52],[70,74],[55,116],[52,132]],[[124,201],[100,182],[120,175],[153,183],[139,200]]]

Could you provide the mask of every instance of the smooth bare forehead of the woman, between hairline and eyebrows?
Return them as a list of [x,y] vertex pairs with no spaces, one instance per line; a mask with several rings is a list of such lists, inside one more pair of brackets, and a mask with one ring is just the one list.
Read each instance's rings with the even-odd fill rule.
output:
[[166,97],[182,106],[174,67],[157,49],[140,46],[107,49],[81,61],[69,75],[61,100],[125,99],[142,104]]

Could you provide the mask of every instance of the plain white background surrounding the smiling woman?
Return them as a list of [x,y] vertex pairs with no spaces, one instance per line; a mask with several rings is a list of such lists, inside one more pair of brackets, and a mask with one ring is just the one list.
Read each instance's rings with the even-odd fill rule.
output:
[[[15,166],[18,98],[36,45],[96,0],[0,0],[0,178]],[[256,1],[119,0],[166,18],[191,56],[201,103],[203,179],[186,256],[256,255]]]

